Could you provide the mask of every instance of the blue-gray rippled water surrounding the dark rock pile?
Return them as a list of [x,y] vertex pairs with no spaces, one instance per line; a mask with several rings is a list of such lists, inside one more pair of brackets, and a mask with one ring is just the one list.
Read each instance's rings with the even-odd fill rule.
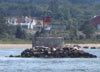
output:
[[100,72],[100,50],[85,50],[98,58],[9,58],[23,49],[0,49],[0,72]]

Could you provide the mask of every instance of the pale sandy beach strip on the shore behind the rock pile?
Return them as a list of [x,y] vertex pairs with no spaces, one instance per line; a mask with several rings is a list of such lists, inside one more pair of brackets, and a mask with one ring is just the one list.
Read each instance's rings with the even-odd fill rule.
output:
[[[96,47],[100,48],[100,44],[65,44],[65,45],[79,45],[81,47],[88,46],[88,47]],[[10,48],[18,48],[18,49],[26,49],[26,48],[32,48],[32,44],[0,44],[0,49],[10,49]]]

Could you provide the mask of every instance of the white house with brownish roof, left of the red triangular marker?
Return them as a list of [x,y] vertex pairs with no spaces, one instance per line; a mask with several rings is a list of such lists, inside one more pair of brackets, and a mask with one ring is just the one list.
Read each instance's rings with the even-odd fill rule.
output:
[[8,17],[7,18],[8,24],[11,25],[21,25],[24,29],[33,29],[32,25],[36,24],[36,21],[32,17]]

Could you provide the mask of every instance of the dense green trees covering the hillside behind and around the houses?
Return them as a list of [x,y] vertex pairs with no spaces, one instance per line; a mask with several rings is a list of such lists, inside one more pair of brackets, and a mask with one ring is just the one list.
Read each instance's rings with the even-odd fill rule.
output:
[[100,1],[0,0],[0,36],[8,37],[11,35],[17,38],[26,38],[25,31],[20,26],[13,27],[6,24],[5,17],[32,16],[41,19],[42,16],[50,16],[51,24],[66,24],[66,31],[69,32],[69,37],[76,36],[78,30],[85,33],[87,38],[90,38],[95,28],[89,19],[94,15],[99,15],[100,4],[98,2]]

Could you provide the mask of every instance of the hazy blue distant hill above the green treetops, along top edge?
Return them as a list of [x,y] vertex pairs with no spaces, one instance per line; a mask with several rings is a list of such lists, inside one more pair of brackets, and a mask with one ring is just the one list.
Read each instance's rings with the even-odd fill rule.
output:
[[[0,3],[18,3],[18,4],[31,4],[31,3],[37,3],[37,4],[45,4],[49,3],[53,0],[0,0]],[[72,4],[95,4],[99,3],[100,0],[58,0],[59,2],[70,2]]]

